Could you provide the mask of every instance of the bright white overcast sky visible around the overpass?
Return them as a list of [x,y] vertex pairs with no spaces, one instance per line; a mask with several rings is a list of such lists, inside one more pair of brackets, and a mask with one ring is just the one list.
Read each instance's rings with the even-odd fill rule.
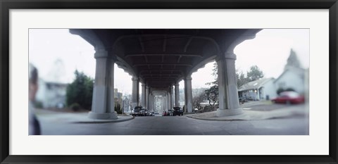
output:
[[[67,29],[30,29],[29,61],[37,67],[43,80],[72,82],[75,69],[94,78],[94,47]],[[268,29],[256,34],[234,49],[236,68],[246,73],[251,65],[257,65],[265,77],[277,78],[287,63],[290,49],[294,49],[303,68],[309,67],[308,29]],[[207,87],[213,81],[213,63],[192,75],[192,87]],[[123,94],[131,93],[131,76],[115,65],[115,88]],[[180,82],[180,87],[184,83]]]

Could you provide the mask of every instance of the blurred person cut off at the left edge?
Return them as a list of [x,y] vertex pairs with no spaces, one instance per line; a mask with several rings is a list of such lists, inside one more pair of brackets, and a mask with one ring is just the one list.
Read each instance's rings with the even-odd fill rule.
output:
[[39,135],[40,134],[40,125],[39,120],[35,116],[34,101],[35,95],[37,94],[38,89],[38,73],[37,68],[34,65],[29,65],[29,82],[28,82],[28,115],[29,115],[29,135]]

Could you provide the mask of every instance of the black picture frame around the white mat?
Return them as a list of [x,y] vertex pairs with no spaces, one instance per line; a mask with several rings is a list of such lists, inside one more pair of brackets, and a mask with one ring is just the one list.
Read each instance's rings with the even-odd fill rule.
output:
[[[337,160],[337,0],[0,0],[0,162],[1,163],[338,163]],[[9,10],[10,9],[329,9],[330,155],[328,156],[10,156]],[[315,148],[314,148],[315,149]]]

